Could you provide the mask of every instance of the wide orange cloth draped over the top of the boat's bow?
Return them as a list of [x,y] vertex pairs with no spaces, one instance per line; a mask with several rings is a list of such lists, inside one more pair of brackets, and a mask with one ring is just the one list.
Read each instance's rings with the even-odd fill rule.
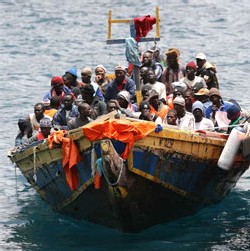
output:
[[127,159],[136,140],[146,137],[150,132],[154,131],[154,129],[154,122],[131,122],[119,119],[92,122],[82,127],[83,134],[89,141],[109,138],[127,143],[121,156],[123,159]]

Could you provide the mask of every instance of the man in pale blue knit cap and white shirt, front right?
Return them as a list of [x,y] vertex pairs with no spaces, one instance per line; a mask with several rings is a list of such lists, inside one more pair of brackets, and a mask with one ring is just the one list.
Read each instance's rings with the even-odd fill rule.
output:
[[204,118],[204,107],[200,101],[195,101],[192,106],[192,113],[195,118],[195,130],[214,130],[214,124],[210,119]]

